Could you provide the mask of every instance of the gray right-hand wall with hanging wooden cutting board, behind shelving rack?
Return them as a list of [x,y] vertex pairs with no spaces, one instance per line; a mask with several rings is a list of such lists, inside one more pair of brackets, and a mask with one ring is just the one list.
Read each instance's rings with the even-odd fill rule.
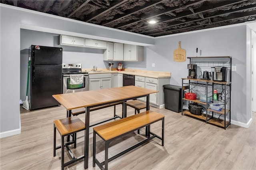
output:
[[[246,32],[250,30],[246,29],[246,25],[242,25],[156,38],[155,45],[145,47],[146,63],[141,69],[171,72],[170,83],[181,86],[181,78],[188,75],[189,59],[182,63],[173,61],[173,51],[178,48],[179,41],[181,48],[186,49],[187,57],[196,56],[196,48],[198,56],[202,57],[231,56],[232,65],[236,65],[237,69],[232,71],[231,119],[246,124],[251,119],[250,62],[246,64]],[[152,67],[152,63],[155,63],[156,67]],[[139,69],[137,65],[128,65]],[[249,77],[246,77],[248,74]]]

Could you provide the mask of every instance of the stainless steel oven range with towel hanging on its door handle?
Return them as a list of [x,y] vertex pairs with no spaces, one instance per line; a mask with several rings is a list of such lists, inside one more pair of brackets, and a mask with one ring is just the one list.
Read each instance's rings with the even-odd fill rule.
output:
[[[63,89],[62,93],[75,93],[79,91],[89,90],[89,77],[88,72],[82,72],[81,64],[62,64],[62,75],[63,75]],[[82,74],[83,81],[80,84],[71,84],[70,75]]]

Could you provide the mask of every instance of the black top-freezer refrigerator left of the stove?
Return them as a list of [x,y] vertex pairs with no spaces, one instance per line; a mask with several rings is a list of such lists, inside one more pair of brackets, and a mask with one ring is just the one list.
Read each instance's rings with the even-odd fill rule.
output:
[[30,46],[30,110],[58,106],[62,93],[62,48]]

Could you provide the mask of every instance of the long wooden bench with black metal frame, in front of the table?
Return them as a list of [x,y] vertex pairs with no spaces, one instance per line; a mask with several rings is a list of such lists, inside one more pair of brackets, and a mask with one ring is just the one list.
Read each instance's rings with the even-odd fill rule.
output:
[[[162,121],[162,137],[150,132],[150,125],[158,121]],[[148,127],[148,130],[146,132],[148,133],[146,134],[148,138],[120,152],[119,154],[111,158],[108,158],[108,147],[112,140],[120,136],[124,136],[125,134],[128,134],[130,132],[134,132],[135,130],[138,130],[143,127]],[[102,140],[104,140],[105,142],[105,161],[104,162],[99,162],[96,159],[96,134],[98,134],[98,136],[100,136],[100,138],[102,138]],[[150,134],[152,134],[152,136],[150,136]],[[108,162],[144,144],[145,142],[151,140],[154,137],[157,137],[160,140],[162,140],[162,146],[164,146],[164,115],[161,115],[154,111],[145,111],[136,115],[126,117],[124,119],[119,119],[117,121],[113,121],[110,123],[106,123],[104,125],[100,125],[98,127],[94,127],[93,128],[93,167],[95,167],[95,164],[97,164],[100,167],[100,169],[107,170]],[[103,165],[105,166],[103,167]]]

